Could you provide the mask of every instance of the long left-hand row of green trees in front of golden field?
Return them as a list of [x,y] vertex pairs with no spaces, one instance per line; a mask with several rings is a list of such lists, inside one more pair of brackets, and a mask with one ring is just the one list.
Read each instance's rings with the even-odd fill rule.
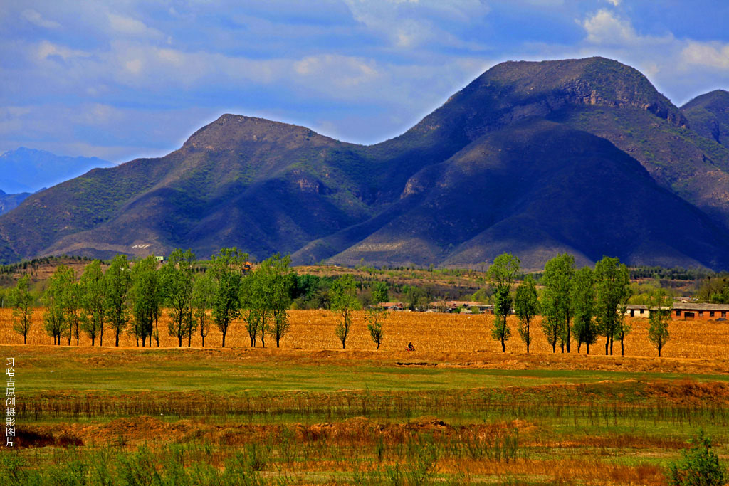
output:
[[[289,256],[275,255],[250,270],[248,255],[237,248],[222,248],[212,256],[206,272],[196,273],[192,251],[173,251],[161,265],[148,256],[130,265],[125,255],[112,259],[106,272],[94,260],[77,280],[74,270],[59,265],[42,296],[45,307],[44,330],[54,344],[66,339],[79,344],[86,334],[95,345],[104,344],[104,331],[112,332],[114,345],[128,332],[141,341],[160,345],[159,318],[167,309],[167,332],[182,346],[190,346],[199,334],[203,346],[210,326],[222,333],[222,346],[231,322],[243,317],[251,345],[265,345],[267,333],[280,345],[289,330],[287,310],[295,277]],[[33,297],[28,275],[17,283],[10,295],[15,315],[15,331],[27,342],[31,329]]]

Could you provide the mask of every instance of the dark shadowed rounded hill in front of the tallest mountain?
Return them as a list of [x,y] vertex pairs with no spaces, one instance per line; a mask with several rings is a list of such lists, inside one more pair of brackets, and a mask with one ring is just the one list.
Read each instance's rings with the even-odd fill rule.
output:
[[[639,162],[543,119],[477,138],[409,187],[402,204],[415,197],[413,208],[332,261],[464,266],[512,251],[536,270],[569,251],[583,263],[611,254],[632,264],[729,264],[728,233]],[[676,221],[690,230],[677,231]]]

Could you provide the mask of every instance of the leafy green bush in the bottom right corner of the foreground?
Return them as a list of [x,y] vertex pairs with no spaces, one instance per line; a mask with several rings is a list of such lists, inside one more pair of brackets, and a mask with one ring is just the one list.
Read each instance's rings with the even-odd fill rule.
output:
[[722,486],[729,481],[727,470],[712,450],[712,440],[698,432],[689,441],[690,448],[682,452],[677,463],[668,466],[669,484],[672,486]]

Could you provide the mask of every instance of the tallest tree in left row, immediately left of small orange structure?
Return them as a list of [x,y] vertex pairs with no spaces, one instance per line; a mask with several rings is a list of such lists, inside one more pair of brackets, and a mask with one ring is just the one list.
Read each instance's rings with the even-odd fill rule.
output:
[[213,321],[222,334],[222,348],[230,323],[241,316],[241,281],[248,254],[238,248],[221,248],[211,259],[210,273],[215,282]]

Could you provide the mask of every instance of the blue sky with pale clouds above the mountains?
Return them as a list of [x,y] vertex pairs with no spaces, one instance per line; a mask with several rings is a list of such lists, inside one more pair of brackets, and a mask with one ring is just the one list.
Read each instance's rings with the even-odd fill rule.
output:
[[0,152],[114,162],[223,113],[364,144],[503,60],[604,55],[674,103],[729,89],[723,0],[172,0],[0,3]]

